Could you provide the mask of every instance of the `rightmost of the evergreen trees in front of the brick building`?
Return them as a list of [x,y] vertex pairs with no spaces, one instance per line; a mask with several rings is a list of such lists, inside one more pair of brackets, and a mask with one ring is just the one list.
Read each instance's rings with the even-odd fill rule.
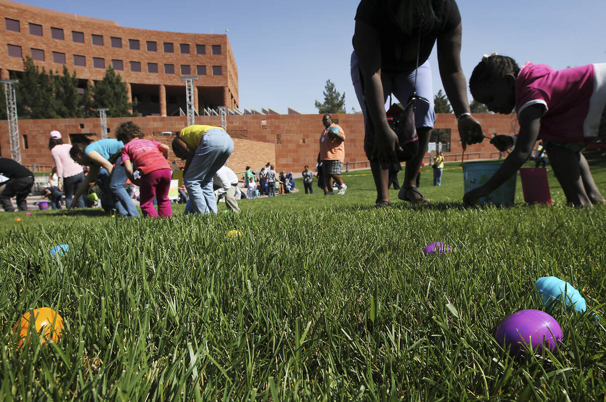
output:
[[126,83],[122,81],[119,74],[116,74],[112,66],[107,67],[103,80],[95,83],[90,92],[93,98],[93,108],[107,107],[107,117],[136,115],[128,112],[128,109],[133,108],[133,103],[127,101]]

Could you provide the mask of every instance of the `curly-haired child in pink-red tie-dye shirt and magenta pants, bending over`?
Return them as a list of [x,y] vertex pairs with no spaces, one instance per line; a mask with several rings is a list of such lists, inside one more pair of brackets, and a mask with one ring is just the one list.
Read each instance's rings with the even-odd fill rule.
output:
[[[142,140],[143,132],[132,121],[122,123],[116,129],[116,139],[124,143],[122,148],[122,165],[130,179],[139,185],[139,204],[143,216],[173,216],[168,199],[171,170],[168,165],[168,146],[154,140]],[[141,172],[138,179],[133,175],[134,169]],[[153,199],[158,202],[158,212],[153,207]]]

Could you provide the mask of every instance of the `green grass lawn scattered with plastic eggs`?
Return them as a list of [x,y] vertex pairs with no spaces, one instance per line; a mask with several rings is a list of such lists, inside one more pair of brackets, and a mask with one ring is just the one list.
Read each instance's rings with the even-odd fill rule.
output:
[[[606,194],[606,163],[590,163]],[[604,318],[558,310],[545,356],[494,339],[542,308],[541,276],[604,316],[605,206],[565,206],[550,172],[553,207],[524,205],[518,180],[516,206],[465,208],[453,163],[440,187],[423,169],[431,205],[393,191],[376,210],[370,172],[343,176],[345,196],[316,186],[239,215],[0,213],[0,400],[605,400]],[[436,240],[450,252],[424,257]],[[13,324],[44,306],[64,335],[18,347]]]

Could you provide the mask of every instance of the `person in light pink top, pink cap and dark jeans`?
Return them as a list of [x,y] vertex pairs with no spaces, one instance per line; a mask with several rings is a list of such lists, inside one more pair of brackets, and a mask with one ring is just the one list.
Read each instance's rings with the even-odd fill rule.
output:
[[[63,190],[65,196],[65,207],[70,208],[74,190],[84,181],[84,169],[78,165],[70,156],[72,144],[64,144],[61,138],[61,132],[53,130],[50,132],[48,140],[48,149],[55,161],[57,175],[59,177],[59,189]],[[76,201],[78,208],[84,208],[84,200],[81,198]]]

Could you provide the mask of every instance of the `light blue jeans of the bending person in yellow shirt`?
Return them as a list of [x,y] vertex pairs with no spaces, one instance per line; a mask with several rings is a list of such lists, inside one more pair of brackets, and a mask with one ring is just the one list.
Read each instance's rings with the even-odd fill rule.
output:
[[225,131],[213,128],[204,133],[183,176],[183,183],[190,196],[188,205],[191,205],[191,208],[185,207],[185,213],[217,213],[213,176],[225,164],[231,152],[233,141]]

